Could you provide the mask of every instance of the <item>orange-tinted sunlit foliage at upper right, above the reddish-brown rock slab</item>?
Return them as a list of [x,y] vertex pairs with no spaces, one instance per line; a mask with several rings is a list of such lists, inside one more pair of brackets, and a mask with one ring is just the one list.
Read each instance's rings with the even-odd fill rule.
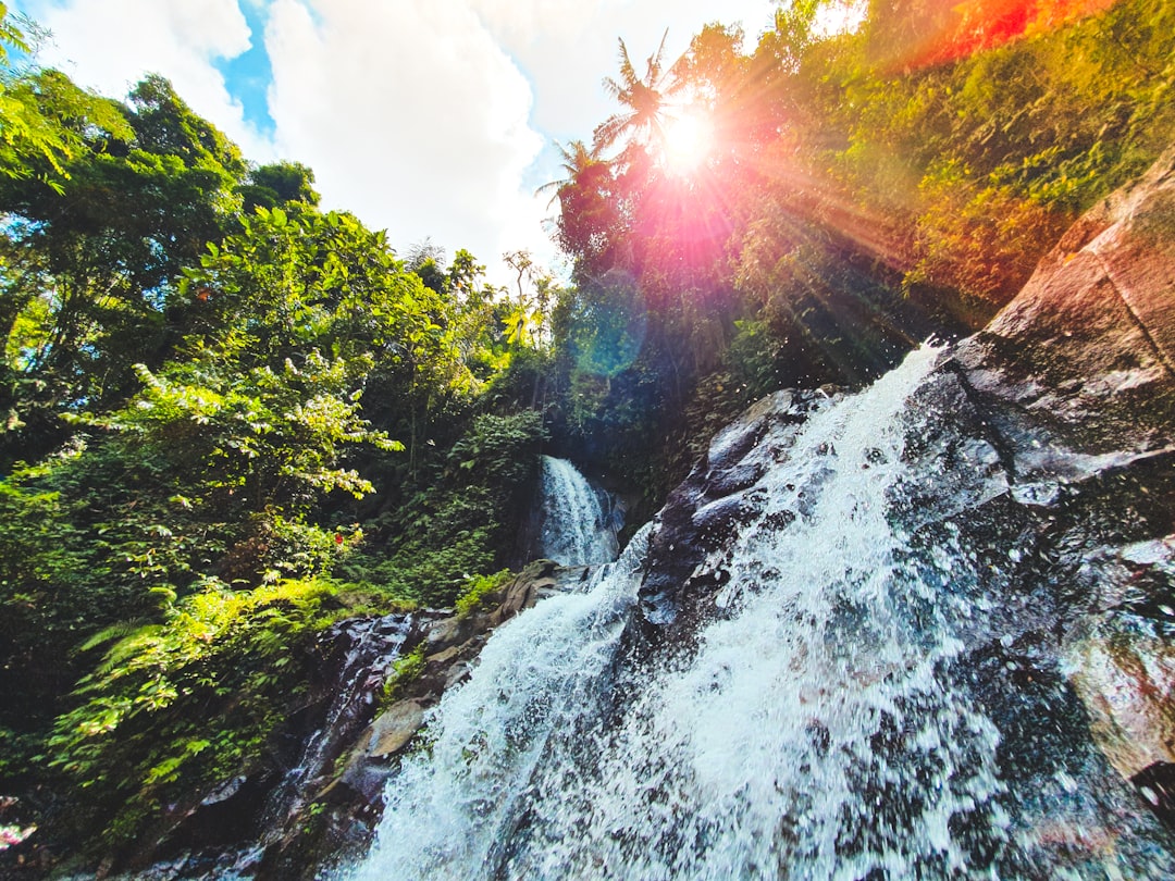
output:
[[1175,83],[1170,4],[1126,0],[1068,21],[1045,14],[1026,39],[949,65],[902,78],[857,70],[841,105],[855,108],[842,168],[881,210],[913,215],[907,287],[986,301],[979,321],[1175,132],[1159,97]]

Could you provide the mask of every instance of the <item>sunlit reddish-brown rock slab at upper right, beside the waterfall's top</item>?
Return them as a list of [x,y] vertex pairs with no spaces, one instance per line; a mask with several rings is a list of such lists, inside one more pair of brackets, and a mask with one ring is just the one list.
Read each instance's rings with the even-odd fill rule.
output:
[[1175,152],[1083,218],[954,357],[1014,478],[1081,479],[1169,449]]

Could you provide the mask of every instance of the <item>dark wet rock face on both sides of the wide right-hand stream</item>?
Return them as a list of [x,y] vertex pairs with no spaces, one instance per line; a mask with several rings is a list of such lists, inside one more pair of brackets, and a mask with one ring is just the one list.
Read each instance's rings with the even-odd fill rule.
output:
[[[891,516],[914,565],[944,547],[967,564],[940,587],[967,610],[947,675],[995,721],[1000,776],[1043,829],[1015,870],[1169,847],[1156,822],[1175,828],[1173,169],[1175,152],[1085,216],[904,415],[912,477]],[[723,614],[716,551],[761,516],[772,460],[820,406],[760,402],[674,492],[643,590],[650,643]]]

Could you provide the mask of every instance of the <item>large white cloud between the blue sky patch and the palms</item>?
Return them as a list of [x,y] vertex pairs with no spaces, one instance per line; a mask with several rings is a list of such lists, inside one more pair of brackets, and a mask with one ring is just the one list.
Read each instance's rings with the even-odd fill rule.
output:
[[276,0],[266,47],[278,148],[315,169],[328,207],[401,249],[430,236],[490,263],[531,244],[530,86],[466,5]]

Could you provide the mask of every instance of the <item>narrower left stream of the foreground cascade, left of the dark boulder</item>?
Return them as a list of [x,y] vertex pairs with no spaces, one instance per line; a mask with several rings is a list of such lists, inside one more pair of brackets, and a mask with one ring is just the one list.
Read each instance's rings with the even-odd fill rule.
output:
[[645,526],[585,593],[544,600],[499,627],[466,686],[429,721],[404,762],[371,856],[356,881],[478,877],[502,859],[552,741],[590,727],[636,604]]

